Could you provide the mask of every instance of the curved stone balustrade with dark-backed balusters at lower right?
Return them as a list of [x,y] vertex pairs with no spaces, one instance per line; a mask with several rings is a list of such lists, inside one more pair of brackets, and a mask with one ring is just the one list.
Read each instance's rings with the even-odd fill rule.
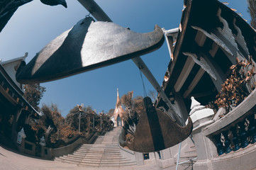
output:
[[213,141],[219,156],[256,142],[255,101],[254,90],[230,113],[204,129],[204,135]]

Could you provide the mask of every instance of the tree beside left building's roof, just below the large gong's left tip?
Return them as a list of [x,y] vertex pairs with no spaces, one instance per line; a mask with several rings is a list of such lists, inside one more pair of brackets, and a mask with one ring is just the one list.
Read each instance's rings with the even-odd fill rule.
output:
[[45,93],[45,87],[40,86],[40,84],[26,84],[24,86],[25,93],[23,97],[30,103],[36,111],[39,110],[40,100],[43,98]]

